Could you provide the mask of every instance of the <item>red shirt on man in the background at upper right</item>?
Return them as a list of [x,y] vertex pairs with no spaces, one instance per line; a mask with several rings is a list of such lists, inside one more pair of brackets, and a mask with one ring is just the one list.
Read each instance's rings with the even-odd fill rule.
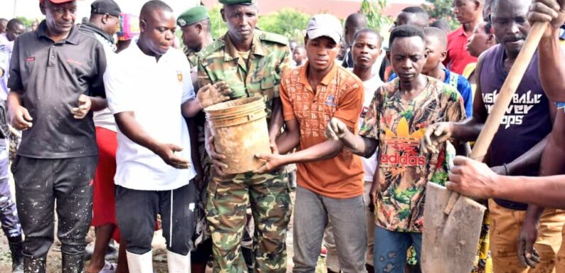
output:
[[443,65],[457,74],[463,74],[468,64],[477,62],[477,58],[471,56],[467,51],[467,39],[468,36],[463,26],[447,35],[447,57]]

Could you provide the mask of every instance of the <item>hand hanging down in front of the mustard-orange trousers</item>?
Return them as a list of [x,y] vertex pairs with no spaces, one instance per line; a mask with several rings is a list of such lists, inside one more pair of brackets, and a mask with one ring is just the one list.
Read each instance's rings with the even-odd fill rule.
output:
[[522,230],[520,230],[520,235],[518,235],[516,247],[518,258],[520,258],[520,263],[524,268],[535,268],[539,263],[539,253],[534,249],[538,231],[539,223],[526,219],[524,225],[522,225]]

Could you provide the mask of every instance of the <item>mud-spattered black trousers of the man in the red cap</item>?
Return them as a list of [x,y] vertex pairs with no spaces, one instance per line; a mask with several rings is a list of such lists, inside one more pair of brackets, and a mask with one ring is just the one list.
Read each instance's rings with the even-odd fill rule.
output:
[[[12,172],[23,234],[23,255],[47,257],[53,244],[53,211],[63,255],[83,255],[92,220],[92,186],[98,157],[37,159],[16,157]],[[56,203],[55,203],[56,202]]]

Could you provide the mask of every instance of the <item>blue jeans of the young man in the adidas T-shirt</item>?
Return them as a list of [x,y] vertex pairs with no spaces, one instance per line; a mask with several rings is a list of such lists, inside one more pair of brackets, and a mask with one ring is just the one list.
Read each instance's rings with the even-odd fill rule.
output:
[[377,226],[372,258],[375,273],[404,273],[406,252],[411,245],[416,249],[420,264],[421,233],[401,233]]

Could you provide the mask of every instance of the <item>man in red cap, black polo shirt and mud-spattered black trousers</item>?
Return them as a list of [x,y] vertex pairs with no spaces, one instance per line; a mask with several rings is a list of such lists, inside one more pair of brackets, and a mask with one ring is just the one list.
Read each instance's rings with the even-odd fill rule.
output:
[[45,21],[16,40],[8,82],[11,123],[23,130],[12,172],[24,266],[45,272],[56,202],[63,273],[82,272],[97,164],[91,110],[106,107],[106,58],[102,45],[75,27],[76,1],[39,6]]

